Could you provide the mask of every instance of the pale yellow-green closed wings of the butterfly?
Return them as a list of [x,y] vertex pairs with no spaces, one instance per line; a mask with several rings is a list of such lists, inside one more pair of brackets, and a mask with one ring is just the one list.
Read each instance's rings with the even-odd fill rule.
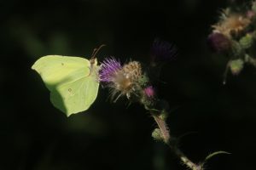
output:
[[60,55],[44,56],[32,65],[49,89],[52,104],[67,116],[86,111],[96,99],[97,69],[90,67],[88,59]]

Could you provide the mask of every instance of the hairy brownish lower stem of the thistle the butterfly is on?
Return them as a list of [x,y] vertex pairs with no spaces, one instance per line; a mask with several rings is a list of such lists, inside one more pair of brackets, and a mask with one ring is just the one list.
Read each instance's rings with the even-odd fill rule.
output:
[[203,167],[201,167],[201,165],[197,165],[193,161],[190,161],[189,158],[185,156],[183,152],[177,148],[175,139],[171,138],[168,127],[166,126],[166,121],[154,112],[151,112],[151,115],[154,117],[154,121],[160,128],[160,133],[163,141],[171,148],[171,150],[183,162],[183,164],[189,167],[189,169],[191,170],[203,170]]

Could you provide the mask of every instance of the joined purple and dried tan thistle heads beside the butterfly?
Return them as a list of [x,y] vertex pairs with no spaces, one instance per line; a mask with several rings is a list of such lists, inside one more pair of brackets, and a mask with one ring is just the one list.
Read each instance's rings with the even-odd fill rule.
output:
[[[140,79],[143,76],[142,67],[139,62],[131,61],[123,66],[116,59],[106,59],[101,67],[100,80],[108,83],[111,88],[112,97],[119,99],[125,95],[130,99],[131,94],[136,94],[140,87]],[[114,101],[115,101],[114,100]]]

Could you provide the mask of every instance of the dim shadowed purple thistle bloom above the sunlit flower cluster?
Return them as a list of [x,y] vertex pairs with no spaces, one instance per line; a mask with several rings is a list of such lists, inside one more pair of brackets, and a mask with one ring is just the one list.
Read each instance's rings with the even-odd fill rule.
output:
[[156,38],[150,52],[153,62],[169,61],[177,55],[177,48],[169,42]]

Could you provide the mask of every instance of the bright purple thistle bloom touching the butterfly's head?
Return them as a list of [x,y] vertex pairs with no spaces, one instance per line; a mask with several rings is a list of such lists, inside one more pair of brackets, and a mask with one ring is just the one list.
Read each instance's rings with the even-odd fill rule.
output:
[[101,82],[113,82],[113,77],[122,69],[120,62],[114,58],[105,59],[99,71]]

